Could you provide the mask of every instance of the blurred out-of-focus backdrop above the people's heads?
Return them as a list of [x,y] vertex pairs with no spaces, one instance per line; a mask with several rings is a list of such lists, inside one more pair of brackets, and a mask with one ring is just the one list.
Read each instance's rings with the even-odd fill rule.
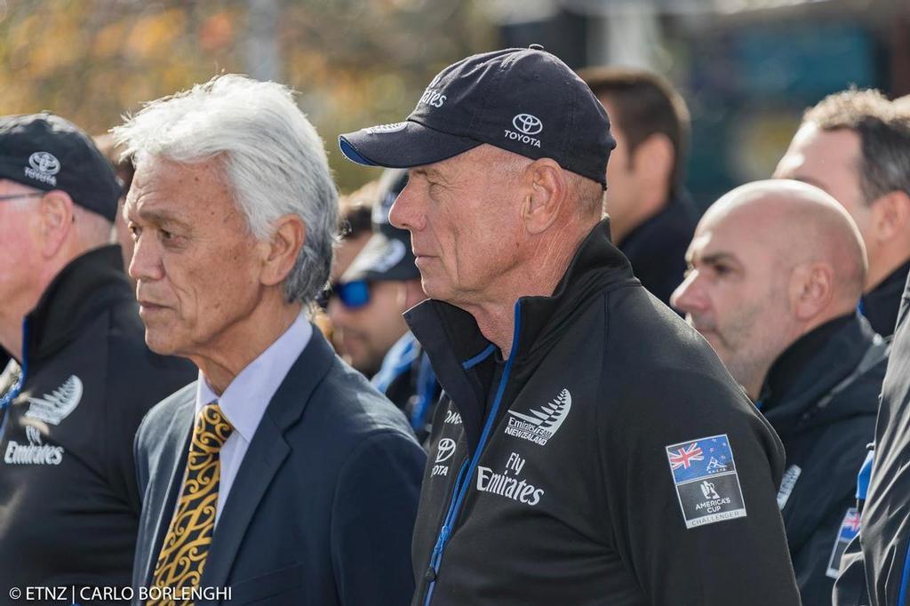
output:
[[300,91],[342,191],[377,171],[339,133],[395,122],[471,53],[541,43],[571,67],[650,67],[693,116],[707,206],[767,177],[806,106],[847,86],[910,93],[908,0],[0,0],[0,115],[100,134],[144,101],[240,72]]

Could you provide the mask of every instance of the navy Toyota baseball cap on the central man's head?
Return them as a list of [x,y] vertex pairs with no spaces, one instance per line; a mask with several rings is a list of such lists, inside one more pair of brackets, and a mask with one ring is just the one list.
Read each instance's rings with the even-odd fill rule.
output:
[[462,59],[433,78],[404,122],[339,136],[349,160],[395,168],[433,164],[484,143],[552,158],[603,187],[616,146],[591,88],[541,45]]

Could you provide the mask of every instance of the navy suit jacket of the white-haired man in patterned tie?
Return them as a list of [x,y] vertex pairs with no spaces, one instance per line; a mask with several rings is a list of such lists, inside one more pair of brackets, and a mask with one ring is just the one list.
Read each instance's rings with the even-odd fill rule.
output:
[[[195,383],[177,391],[136,434],[137,605],[181,488],[195,398]],[[410,539],[425,460],[400,411],[314,329],[249,444],[196,604],[410,603]]]

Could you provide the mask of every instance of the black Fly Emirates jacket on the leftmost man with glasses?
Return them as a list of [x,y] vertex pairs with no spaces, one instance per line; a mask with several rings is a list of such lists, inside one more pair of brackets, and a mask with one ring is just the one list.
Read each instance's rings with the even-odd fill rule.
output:
[[25,320],[22,365],[0,377],[11,400],[0,411],[0,604],[20,603],[11,587],[75,585],[83,604],[106,601],[82,600],[80,587],[129,587],[133,437],[146,411],[197,373],[148,350],[122,263],[111,246],[66,266]]

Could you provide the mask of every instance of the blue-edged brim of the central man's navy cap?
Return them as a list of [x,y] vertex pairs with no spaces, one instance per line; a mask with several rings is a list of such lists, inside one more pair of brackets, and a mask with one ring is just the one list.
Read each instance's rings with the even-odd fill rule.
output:
[[411,120],[339,136],[341,153],[351,162],[367,167],[422,167],[479,145],[480,141],[449,135]]

